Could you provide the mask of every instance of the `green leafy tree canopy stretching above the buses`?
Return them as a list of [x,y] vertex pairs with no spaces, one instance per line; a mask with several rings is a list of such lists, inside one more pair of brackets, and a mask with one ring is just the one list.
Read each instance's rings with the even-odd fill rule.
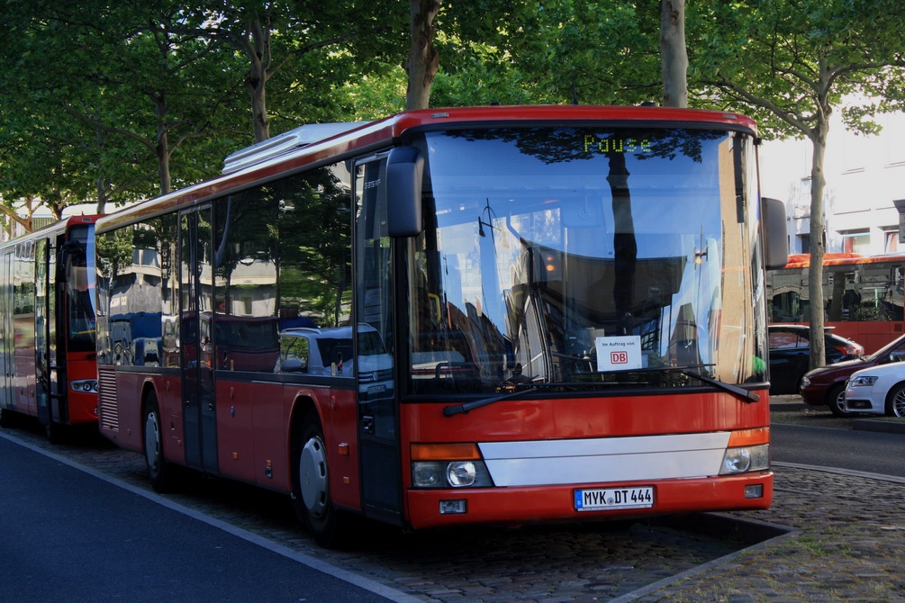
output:
[[819,139],[819,118],[861,93],[846,117],[871,131],[902,98],[902,11],[894,0],[3,0],[0,196],[7,213],[21,200],[103,211],[213,176],[271,132],[406,107],[681,106],[682,23],[690,106],[748,112],[766,137]]

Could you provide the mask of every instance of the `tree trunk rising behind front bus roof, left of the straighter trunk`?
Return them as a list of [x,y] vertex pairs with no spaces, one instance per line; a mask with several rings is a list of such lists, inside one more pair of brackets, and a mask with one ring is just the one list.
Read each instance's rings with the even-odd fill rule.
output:
[[440,57],[433,48],[433,17],[440,12],[440,0],[409,0],[408,9],[412,47],[405,61],[405,108],[411,110],[428,108],[433,78],[440,68]]

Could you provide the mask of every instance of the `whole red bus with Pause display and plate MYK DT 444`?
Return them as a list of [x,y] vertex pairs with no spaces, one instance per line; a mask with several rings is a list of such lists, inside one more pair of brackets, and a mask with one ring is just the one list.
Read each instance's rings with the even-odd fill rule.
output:
[[98,222],[100,430],[157,489],[189,466],[284,492],[324,546],[355,515],[770,504],[756,291],[788,251],[752,121],[485,107],[348,127]]

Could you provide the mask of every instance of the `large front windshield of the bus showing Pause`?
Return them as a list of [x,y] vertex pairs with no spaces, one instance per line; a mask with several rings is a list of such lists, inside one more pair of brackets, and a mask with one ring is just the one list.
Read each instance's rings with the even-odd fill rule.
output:
[[537,127],[423,144],[410,391],[700,386],[677,367],[765,379],[749,137]]

